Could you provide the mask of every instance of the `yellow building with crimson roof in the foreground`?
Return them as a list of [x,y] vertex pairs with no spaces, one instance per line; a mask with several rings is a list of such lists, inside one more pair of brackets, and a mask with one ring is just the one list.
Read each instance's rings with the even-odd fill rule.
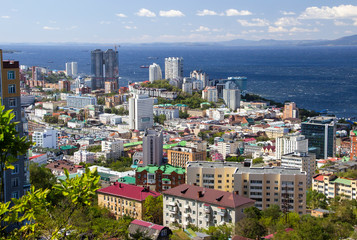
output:
[[98,205],[108,208],[118,219],[124,215],[142,220],[145,199],[148,196],[158,197],[160,193],[146,187],[138,187],[124,183],[114,183],[106,188],[97,190]]

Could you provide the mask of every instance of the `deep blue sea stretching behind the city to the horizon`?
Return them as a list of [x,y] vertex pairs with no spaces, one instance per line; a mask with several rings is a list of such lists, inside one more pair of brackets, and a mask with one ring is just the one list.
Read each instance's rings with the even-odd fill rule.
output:
[[[78,62],[80,73],[90,74],[90,51],[114,46],[3,45],[4,59],[28,66],[63,70],[65,62]],[[328,110],[338,117],[357,117],[357,46],[329,47],[220,47],[121,46],[121,86],[148,80],[141,65],[158,63],[165,57],[183,57],[184,75],[201,69],[211,79],[248,77],[248,91],[275,101],[294,101],[298,107]]]

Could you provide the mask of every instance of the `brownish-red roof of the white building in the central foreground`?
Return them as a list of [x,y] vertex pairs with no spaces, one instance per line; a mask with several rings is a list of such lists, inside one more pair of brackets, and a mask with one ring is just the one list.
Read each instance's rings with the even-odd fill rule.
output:
[[[201,196],[199,196],[200,192]],[[188,184],[181,184],[177,187],[168,189],[164,191],[163,194],[197,200],[200,202],[229,208],[236,208],[247,203],[255,202],[250,198],[239,196],[236,193],[203,188]]]

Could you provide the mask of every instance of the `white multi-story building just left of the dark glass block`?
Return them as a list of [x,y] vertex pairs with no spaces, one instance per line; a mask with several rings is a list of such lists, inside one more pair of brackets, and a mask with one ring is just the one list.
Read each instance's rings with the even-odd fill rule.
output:
[[280,160],[282,155],[297,152],[307,153],[309,151],[309,140],[300,133],[289,134],[276,138],[276,159]]

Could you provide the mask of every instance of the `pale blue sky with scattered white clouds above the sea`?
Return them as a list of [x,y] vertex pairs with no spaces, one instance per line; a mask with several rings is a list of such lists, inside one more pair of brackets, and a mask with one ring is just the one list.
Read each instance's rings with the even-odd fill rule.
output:
[[210,42],[357,34],[357,1],[2,1],[0,42]]

